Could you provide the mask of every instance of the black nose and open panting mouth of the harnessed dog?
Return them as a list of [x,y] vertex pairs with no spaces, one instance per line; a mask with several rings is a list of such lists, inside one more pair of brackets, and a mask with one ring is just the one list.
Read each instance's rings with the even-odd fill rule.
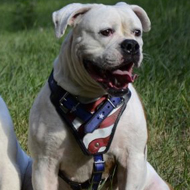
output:
[[128,84],[137,76],[132,74],[133,67],[140,60],[140,47],[135,40],[124,40],[120,48],[123,59],[118,66],[102,68],[93,61],[83,61],[89,75],[113,96],[123,96],[128,92]]

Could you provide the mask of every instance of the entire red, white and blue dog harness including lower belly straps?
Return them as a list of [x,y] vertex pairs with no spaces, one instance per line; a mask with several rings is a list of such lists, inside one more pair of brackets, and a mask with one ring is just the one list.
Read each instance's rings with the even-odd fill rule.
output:
[[54,80],[53,71],[48,80],[51,90],[50,100],[61,119],[71,129],[83,153],[93,156],[92,176],[89,180],[78,183],[69,180],[62,171],[61,177],[73,190],[98,189],[102,183],[105,169],[103,154],[111,145],[120,116],[126,108],[131,92],[123,97],[105,95],[94,102],[81,103],[76,96],[60,87]]

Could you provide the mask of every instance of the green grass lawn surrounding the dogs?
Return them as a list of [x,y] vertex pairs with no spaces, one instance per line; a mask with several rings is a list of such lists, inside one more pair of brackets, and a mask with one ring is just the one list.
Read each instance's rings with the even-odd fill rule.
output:
[[[30,107],[52,69],[62,41],[54,37],[51,13],[74,1],[30,2],[33,4],[23,4],[22,0],[0,2],[0,93],[25,150]],[[128,3],[141,5],[152,21],[151,32],[144,35],[145,56],[142,67],[136,71],[139,78],[135,82],[147,114],[148,160],[175,190],[189,190],[190,1]],[[29,11],[24,12],[25,8]]]

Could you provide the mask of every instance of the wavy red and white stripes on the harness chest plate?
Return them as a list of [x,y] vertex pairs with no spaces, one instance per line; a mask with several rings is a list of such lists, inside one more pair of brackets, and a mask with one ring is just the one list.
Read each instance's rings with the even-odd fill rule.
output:
[[[106,97],[102,97],[93,103],[86,104],[86,109],[92,114],[98,109],[98,107],[104,102]],[[67,113],[69,122],[78,131],[80,140],[83,142],[84,147],[90,154],[102,153],[106,150],[111,141],[111,135],[114,131],[115,122],[121,112],[122,105],[113,109],[112,112],[104,118],[101,113],[99,117],[103,119],[102,123],[92,133],[85,133],[85,123],[74,113]]]

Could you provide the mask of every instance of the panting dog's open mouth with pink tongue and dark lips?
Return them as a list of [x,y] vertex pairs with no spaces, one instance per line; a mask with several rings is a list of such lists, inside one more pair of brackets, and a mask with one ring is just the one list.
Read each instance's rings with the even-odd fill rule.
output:
[[90,76],[97,81],[108,92],[125,93],[128,84],[134,82],[137,75],[133,75],[134,63],[122,63],[112,69],[102,69],[93,62],[85,61],[85,68]]

